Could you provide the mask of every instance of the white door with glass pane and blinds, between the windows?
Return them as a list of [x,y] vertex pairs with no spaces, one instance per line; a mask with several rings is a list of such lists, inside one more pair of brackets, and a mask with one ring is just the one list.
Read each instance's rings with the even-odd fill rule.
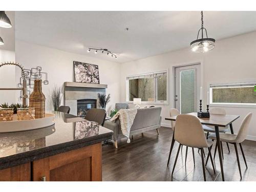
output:
[[200,64],[175,68],[175,108],[181,114],[199,110],[200,74]]

